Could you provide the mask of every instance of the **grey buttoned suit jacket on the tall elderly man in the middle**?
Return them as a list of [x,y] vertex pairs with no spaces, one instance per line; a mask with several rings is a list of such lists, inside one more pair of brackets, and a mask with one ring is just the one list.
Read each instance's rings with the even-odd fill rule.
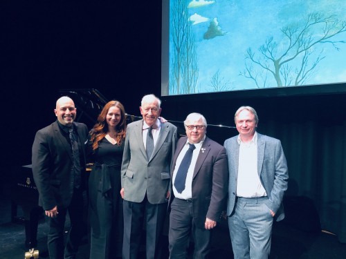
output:
[[161,204],[167,202],[177,129],[169,122],[161,124],[158,140],[148,161],[143,144],[142,125],[143,119],[127,125],[121,166],[124,200],[142,202],[146,193],[151,204]]

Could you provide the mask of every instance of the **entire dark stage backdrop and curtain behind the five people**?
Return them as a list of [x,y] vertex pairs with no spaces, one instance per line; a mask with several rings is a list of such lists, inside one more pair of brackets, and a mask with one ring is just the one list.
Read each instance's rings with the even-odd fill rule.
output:
[[[98,89],[136,116],[143,95],[161,97],[159,0],[1,1],[0,26],[1,184],[12,166],[31,163],[35,133],[55,121],[61,89]],[[192,112],[202,113],[208,124],[229,126],[208,126],[207,135],[220,144],[237,134],[237,108],[253,106],[258,131],[282,140],[295,181],[287,193],[312,198],[322,227],[346,225],[346,84],[161,99],[161,115],[179,133]]]

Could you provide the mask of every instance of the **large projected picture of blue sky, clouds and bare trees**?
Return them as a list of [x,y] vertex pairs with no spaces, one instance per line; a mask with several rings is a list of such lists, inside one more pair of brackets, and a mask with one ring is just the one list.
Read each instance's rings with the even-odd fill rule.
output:
[[342,0],[170,0],[169,95],[346,81]]

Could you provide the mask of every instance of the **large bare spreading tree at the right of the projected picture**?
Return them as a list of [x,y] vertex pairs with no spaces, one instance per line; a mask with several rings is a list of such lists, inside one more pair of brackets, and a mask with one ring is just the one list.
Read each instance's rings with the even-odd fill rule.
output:
[[259,48],[257,55],[252,48],[248,48],[246,69],[240,75],[255,81],[257,88],[267,86],[268,76],[274,77],[278,87],[308,84],[316,66],[327,55],[323,53],[323,46],[317,57],[312,57],[313,52],[318,51],[318,45],[322,44],[331,44],[340,50],[338,44],[345,44],[346,41],[333,39],[345,32],[345,28],[345,21],[338,21],[333,15],[310,14],[301,24],[282,28],[283,46],[270,37]]

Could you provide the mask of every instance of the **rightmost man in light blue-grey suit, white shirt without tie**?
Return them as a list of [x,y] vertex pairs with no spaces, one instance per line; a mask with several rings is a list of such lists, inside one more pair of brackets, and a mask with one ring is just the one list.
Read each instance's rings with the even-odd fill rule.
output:
[[235,113],[239,135],[226,140],[230,173],[228,227],[234,258],[268,258],[273,219],[284,218],[282,199],[289,179],[280,140],[256,132],[257,113]]

